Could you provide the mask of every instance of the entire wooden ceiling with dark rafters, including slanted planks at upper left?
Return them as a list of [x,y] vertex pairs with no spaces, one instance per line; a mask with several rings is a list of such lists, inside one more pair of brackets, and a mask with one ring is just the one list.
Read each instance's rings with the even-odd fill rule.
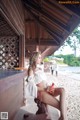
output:
[[44,57],[54,53],[80,23],[80,4],[60,4],[59,0],[1,0],[0,7],[11,25],[0,13],[0,36],[25,35],[26,55],[35,51],[36,46]]

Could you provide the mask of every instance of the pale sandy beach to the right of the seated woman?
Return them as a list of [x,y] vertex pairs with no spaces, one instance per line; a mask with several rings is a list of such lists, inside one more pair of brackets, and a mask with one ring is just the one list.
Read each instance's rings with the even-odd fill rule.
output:
[[66,90],[66,104],[68,120],[80,120],[80,80],[74,79],[72,73],[59,73],[58,77],[47,73],[58,87]]

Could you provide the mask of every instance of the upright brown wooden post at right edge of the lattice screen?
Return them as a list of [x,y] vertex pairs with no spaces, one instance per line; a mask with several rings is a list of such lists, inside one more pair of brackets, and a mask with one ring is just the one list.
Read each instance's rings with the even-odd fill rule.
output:
[[19,67],[25,65],[25,37],[21,35],[19,37]]

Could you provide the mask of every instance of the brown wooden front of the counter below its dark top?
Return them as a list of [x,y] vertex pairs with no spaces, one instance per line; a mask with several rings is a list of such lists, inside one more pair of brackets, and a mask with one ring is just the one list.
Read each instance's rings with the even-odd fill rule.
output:
[[0,112],[8,112],[13,120],[17,110],[23,105],[23,78],[25,72],[0,79]]

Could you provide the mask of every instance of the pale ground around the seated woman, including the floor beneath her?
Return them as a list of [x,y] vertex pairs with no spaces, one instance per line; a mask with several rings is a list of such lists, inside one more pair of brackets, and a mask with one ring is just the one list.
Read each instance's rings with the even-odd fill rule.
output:
[[[56,77],[55,75],[47,73],[47,78],[49,83],[54,82],[56,86],[65,88],[68,120],[80,120],[80,81],[77,80],[77,78],[71,78],[72,75],[73,74],[68,75],[67,73],[59,73]],[[59,111],[50,106],[48,106],[48,109],[52,120],[58,120]],[[35,114],[36,111],[37,106],[34,103],[33,98],[27,98],[27,104],[20,108],[14,120],[23,120],[24,113]]]

